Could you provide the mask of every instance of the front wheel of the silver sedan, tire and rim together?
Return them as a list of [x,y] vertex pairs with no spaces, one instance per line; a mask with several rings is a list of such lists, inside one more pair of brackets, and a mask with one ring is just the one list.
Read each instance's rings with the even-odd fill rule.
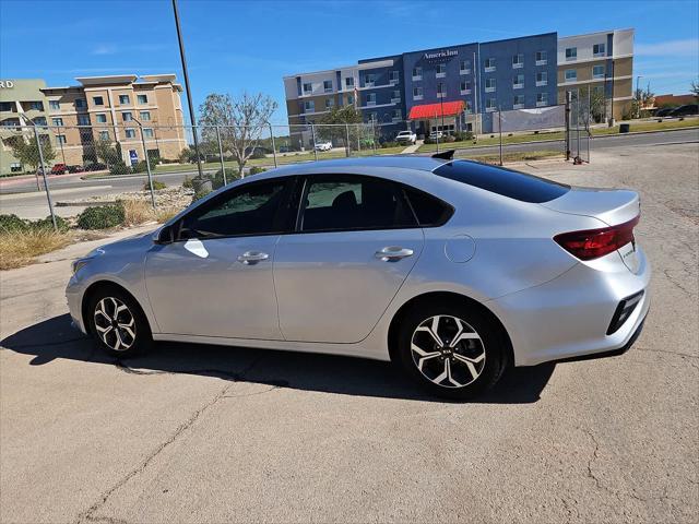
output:
[[151,326],[139,303],[116,286],[97,289],[87,305],[90,333],[107,355],[128,358],[150,348]]

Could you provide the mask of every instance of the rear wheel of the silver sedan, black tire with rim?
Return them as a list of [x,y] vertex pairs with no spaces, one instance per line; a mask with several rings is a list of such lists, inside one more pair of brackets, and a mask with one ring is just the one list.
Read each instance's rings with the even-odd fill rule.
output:
[[497,383],[507,365],[501,327],[467,305],[418,303],[399,330],[398,364],[436,396],[474,398]]

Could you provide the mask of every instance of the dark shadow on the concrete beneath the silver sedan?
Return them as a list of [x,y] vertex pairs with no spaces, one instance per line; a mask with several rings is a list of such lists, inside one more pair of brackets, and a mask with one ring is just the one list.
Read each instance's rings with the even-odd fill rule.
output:
[[[253,382],[297,390],[443,402],[416,388],[390,362],[369,359],[210,346],[200,344],[158,343],[143,356],[114,359],[95,349],[91,338],[70,325],[62,314],[36,323],[0,341],[5,348],[33,355],[32,366],[55,359],[82,360],[116,366],[133,374],[187,373],[217,377],[224,380]],[[498,385],[478,398],[478,403],[526,404],[538,401],[555,365],[513,368]]]

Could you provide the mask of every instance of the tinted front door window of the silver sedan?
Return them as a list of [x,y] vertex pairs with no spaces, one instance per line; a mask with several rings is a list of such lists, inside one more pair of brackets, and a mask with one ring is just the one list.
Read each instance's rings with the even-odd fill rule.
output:
[[280,230],[285,180],[250,183],[227,191],[187,215],[180,238],[265,235]]

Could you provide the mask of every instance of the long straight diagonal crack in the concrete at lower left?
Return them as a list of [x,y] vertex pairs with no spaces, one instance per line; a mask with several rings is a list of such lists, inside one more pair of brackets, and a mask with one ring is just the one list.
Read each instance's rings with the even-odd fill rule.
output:
[[[249,373],[263,358],[264,358],[264,355],[261,355],[260,357],[256,358],[250,364],[250,366],[248,366],[246,369],[244,369],[240,372],[240,377],[245,377],[247,373]],[[107,517],[95,516],[94,513],[96,511],[98,511],[100,508],[103,508],[107,503],[107,500],[109,499],[109,497],[111,497],[111,495],[114,492],[116,492],[118,489],[123,487],[133,477],[135,477],[135,476],[140,475],[141,473],[143,473],[145,471],[145,468],[166,448],[168,448],[170,444],[173,444],[183,432],[186,432],[189,428],[191,428],[204,412],[206,412],[210,407],[214,406],[218,401],[221,401],[221,398],[226,397],[226,393],[228,392],[228,390],[230,390],[236,384],[236,382],[237,381],[232,381],[229,384],[226,384],[226,386],[223,388],[222,390],[220,390],[218,393],[216,393],[213,396],[213,398],[211,398],[208,403],[205,403],[200,408],[196,409],[194,413],[192,413],[187,418],[187,420],[185,420],[182,424],[180,424],[175,429],[175,431],[164,442],[162,442],[151,453],[149,453],[149,455],[143,461],[141,461],[141,463],[137,467],[131,469],[127,475],[121,477],[121,479],[119,481],[117,481],[111,488],[107,489],[107,491],[105,491],[103,495],[100,495],[98,500],[94,504],[92,504],[90,508],[87,508],[87,510],[85,510],[84,512],[80,513],[78,515],[75,522],[78,524],[85,523],[85,522],[88,522],[88,523],[127,524],[127,521],[112,519],[112,517],[108,517],[108,516]],[[275,388],[272,388],[272,389],[270,389],[268,391],[271,391],[273,389],[275,389]]]

